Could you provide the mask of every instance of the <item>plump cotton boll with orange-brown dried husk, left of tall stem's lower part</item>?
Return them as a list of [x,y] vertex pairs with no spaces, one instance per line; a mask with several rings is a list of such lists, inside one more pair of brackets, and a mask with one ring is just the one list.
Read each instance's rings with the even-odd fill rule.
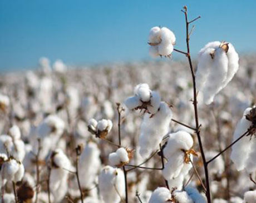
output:
[[168,162],[165,164],[163,176],[170,183],[174,181],[176,187],[183,184],[184,177],[192,167],[190,160],[193,159],[192,155],[196,155],[193,144],[193,138],[188,132],[178,131],[169,135],[164,147],[164,157]]

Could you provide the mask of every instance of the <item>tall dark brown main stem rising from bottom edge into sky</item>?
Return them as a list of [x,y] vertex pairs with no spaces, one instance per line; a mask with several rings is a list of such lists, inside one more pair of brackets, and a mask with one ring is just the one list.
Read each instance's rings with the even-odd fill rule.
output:
[[[192,65],[192,61],[191,61],[191,56],[190,56],[190,47],[189,47],[189,23],[194,22],[195,19],[193,21],[188,21],[188,8],[186,6],[184,6],[184,11],[182,11],[185,14],[185,21],[186,21],[186,48],[187,48],[187,58],[189,61],[189,67],[190,67],[190,71],[191,71],[191,76],[192,76],[192,80],[193,80],[193,93],[194,93],[194,100],[193,100],[193,105],[194,105],[194,113],[195,113],[195,126],[196,129],[199,129],[200,125],[199,125],[199,117],[198,117],[198,101],[197,101],[197,90],[196,90],[196,82],[195,82],[195,72],[194,72],[194,68]],[[204,148],[203,148],[203,143],[201,141],[201,136],[200,136],[200,130],[196,131],[196,136],[198,137],[198,143],[199,143],[199,148],[200,148],[200,152],[201,152],[201,157],[203,160],[203,164],[204,164],[204,172],[205,172],[205,182],[206,182],[206,197],[207,197],[207,201],[208,203],[211,203],[211,195],[210,195],[210,182],[209,182],[209,174],[208,174],[208,167],[207,167],[207,162],[205,159],[205,154],[204,154]]]

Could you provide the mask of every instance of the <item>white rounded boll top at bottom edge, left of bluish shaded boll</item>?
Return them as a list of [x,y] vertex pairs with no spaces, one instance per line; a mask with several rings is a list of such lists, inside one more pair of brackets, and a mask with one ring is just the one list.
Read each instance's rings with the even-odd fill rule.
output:
[[166,203],[171,200],[171,192],[166,187],[157,187],[152,193],[149,203]]

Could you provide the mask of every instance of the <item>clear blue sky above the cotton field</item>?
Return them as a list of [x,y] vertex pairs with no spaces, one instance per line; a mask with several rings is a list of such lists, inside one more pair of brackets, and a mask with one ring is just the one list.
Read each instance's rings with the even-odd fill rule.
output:
[[41,56],[71,65],[152,60],[146,42],[153,26],[169,27],[184,49],[184,5],[190,18],[201,16],[194,55],[215,40],[256,52],[255,0],[0,0],[0,70],[34,68]]

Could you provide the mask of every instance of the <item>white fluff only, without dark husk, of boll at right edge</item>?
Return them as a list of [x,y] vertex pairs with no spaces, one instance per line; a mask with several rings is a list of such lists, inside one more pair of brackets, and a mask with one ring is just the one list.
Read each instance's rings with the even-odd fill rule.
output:
[[[242,119],[235,128],[233,141],[237,140],[241,135],[243,135],[243,133],[245,133],[252,125],[252,122],[245,118],[246,115],[249,115],[250,110],[252,110],[252,108],[247,108],[244,111]],[[241,140],[239,140],[239,142],[232,146],[230,159],[234,162],[238,171],[241,171],[246,167],[247,160],[249,159],[249,154],[252,149],[252,143],[252,140],[250,141],[250,136],[244,136]]]

